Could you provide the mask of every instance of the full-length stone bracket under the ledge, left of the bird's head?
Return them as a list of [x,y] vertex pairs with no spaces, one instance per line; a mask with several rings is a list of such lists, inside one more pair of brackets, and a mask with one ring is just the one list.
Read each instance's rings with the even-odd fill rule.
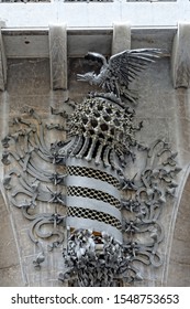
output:
[[49,60],[52,89],[67,89],[67,29],[49,25]]

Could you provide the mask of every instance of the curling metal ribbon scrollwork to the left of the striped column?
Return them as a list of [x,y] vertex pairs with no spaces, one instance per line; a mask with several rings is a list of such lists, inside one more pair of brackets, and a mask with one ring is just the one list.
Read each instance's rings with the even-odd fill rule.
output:
[[[57,154],[57,143],[47,146],[46,132],[47,126],[41,117],[25,107],[22,117],[12,120],[10,134],[2,140],[2,162],[8,167],[3,185],[11,204],[21,209],[23,216],[32,222],[29,236],[40,249],[34,260],[35,267],[45,260],[44,239],[48,241],[48,249],[53,249],[63,244],[65,238],[63,187],[67,174],[59,173],[55,167],[65,157]],[[41,204],[52,204],[53,212],[41,213]],[[57,213],[58,206],[63,207],[62,213]],[[45,233],[43,227],[47,225],[48,232]]]

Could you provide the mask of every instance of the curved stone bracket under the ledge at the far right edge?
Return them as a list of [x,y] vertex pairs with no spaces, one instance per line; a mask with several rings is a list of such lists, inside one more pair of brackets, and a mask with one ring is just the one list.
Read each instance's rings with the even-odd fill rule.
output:
[[171,74],[175,88],[190,87],[190,23],[179,23],[174,40]]

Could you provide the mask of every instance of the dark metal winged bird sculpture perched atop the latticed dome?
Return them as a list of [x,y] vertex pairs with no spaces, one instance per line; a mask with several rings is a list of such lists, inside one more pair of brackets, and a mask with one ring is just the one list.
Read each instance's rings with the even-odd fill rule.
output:
[[123,95],[134,102],[136,96],[133,90],[128,89],[130,83],[148,64],[164,55],[160,49],[137,49],[123,51],[107,61],[102,54],[89,52],[85,58],[100,62],[102,64],[100,73],[98,75],[94,72],[77,74],[77,79],[88,82],[90,85],[98,85],[107,93],[112,93],[118,99]]

